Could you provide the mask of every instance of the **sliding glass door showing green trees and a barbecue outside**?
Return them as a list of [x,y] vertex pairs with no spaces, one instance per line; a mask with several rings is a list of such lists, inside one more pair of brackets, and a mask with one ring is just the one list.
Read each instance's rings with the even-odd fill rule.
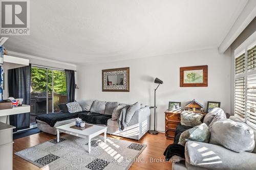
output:
[[30,124],[34,125],[37,115],[58,112],[58,104],[67,102],[65,71],[32,66],[30,92]]

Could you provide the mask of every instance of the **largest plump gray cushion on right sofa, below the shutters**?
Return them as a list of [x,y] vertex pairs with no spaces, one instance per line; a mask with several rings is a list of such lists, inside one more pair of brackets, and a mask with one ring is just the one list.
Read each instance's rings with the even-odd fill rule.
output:
[[210,143],[222,145],[234,152],[251,152],[254,149],[253,130],[244,123],[222,118],[212,125]]

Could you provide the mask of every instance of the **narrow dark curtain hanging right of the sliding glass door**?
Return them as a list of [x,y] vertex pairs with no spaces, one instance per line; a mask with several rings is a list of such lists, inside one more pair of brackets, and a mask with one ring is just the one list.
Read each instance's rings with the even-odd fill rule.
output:
[[75,71],[65,69],[65,72],[66,72],[68,102],[74,102],[75,101]]

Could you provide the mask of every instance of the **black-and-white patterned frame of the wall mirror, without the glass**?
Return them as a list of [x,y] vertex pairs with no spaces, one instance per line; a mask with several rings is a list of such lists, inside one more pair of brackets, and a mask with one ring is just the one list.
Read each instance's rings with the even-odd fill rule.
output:
[[[123,75],[123,85],[108,85],[108,76]],[[130,67],[102,69],[102,91],[130,91]]]

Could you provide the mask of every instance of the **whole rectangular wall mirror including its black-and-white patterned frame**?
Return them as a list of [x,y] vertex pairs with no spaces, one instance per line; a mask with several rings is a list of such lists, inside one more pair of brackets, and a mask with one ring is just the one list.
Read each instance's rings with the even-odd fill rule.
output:
[[130,91],[130,67],[102,69],[102,91]]

